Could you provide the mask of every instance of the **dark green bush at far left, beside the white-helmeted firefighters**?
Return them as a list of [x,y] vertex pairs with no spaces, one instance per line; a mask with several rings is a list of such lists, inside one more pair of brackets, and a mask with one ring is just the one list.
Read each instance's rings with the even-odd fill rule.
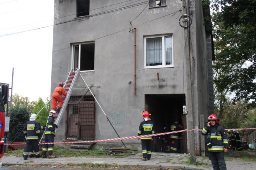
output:
[[27,121],[29,121],[30,113],[27,111],[27,107],[12,107],[9,110],[10,115],[10,127],[7,135],[8,141],[25,141],[23,134],[23,127]]

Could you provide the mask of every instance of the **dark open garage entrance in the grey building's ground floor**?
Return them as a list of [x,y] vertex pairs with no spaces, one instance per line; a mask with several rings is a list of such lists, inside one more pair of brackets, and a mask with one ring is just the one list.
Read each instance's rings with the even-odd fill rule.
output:
[[[178,120],[182,129],[186,129],[185,94],[146,94],[145,110],[151,114],[155,133],[170,132],[170,125]],[[170,152],[170,135],[154,137],[154,152]],[[186,132],[179,134],[179,146],[176,153],[187,153]]]

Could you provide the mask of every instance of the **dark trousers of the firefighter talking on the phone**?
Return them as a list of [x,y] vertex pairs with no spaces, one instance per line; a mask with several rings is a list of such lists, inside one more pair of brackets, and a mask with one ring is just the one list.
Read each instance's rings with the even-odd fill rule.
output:
[[214,170],[227,170],[224,160],[224,152],[208,152]]

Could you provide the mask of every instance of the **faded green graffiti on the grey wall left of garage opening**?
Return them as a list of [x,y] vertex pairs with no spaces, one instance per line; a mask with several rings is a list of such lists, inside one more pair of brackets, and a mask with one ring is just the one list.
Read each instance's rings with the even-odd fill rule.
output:
[[109,112],[107,116],[112,125],[131,125],[132,123],[129,113],[119,113],[113,111]]

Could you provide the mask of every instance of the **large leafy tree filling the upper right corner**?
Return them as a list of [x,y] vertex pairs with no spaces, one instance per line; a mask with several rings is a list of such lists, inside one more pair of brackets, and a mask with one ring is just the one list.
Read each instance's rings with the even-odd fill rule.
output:
[[212,0],[218,92],[256,104],[256,1]]

